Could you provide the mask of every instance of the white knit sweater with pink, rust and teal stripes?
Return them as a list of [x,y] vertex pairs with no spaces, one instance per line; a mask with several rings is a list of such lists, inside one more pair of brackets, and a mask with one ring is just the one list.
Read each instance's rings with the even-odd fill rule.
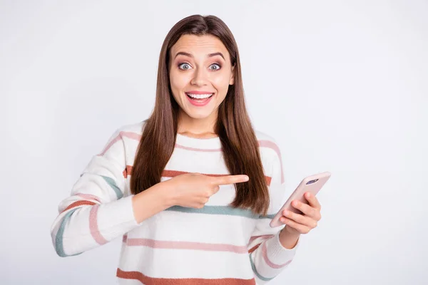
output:
[[[121,237],[118,284],[265,284],[290,264],[297,246],[282,247],[282,227],[269,226],[285,195],[280,150],[270,136],[256,131],[270,190],[267,216],[230,207],[235,189],[222,185],[202,209],[173,206],[138,223],[129,185],[142,127],[116,130],[59,204],[51,237],[60,257]],[[220,139],[178,134],[161,180],[186,172],[228,175]]]

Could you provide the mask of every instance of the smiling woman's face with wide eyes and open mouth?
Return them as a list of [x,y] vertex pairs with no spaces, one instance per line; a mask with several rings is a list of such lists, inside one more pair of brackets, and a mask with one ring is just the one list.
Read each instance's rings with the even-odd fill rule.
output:
[[170,86],[181,114],[214,120],[233,85],[230,55],[215,36],[183,35],[170,49]]

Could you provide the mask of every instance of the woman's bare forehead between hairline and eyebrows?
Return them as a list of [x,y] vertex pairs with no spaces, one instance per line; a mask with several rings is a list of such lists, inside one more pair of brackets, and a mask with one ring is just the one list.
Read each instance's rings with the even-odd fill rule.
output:
[[204,35],[183,35],[172,46],[170,53],[174,57],[179,51],[192,53],[193,56],[206,56],[209,53],[220,52],[225,58],[229,58],[229,53],[225,45],[215,36]]

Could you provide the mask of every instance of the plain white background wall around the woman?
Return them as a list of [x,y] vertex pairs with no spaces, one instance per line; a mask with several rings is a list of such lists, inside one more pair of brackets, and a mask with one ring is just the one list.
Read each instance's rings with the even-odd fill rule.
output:
[[58,257],[50,227],[92,155],[155,99],[169,29],[233,31],[287,195],[330,171],[322,220],[270,284],[426,284],[427,1],[1,1],[1,284],[115,284],[121,239]]

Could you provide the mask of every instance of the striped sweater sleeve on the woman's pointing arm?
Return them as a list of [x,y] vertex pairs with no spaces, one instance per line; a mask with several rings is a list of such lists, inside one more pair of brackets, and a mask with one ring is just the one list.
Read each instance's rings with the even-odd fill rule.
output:
[[81,254],[138,226],[133,195],[123,197],[126,155],[122,134],[116,130],[103,152],[92,157],[71,195],[58,205],[51,237],[60,257]]

